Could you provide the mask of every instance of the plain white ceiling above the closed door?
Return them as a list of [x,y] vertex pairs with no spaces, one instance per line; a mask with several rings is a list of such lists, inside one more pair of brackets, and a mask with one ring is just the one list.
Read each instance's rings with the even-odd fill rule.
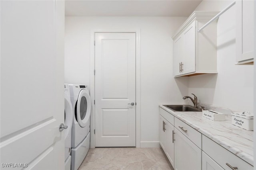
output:
[[65,0],[65,16],[189,16],[202,0]]

